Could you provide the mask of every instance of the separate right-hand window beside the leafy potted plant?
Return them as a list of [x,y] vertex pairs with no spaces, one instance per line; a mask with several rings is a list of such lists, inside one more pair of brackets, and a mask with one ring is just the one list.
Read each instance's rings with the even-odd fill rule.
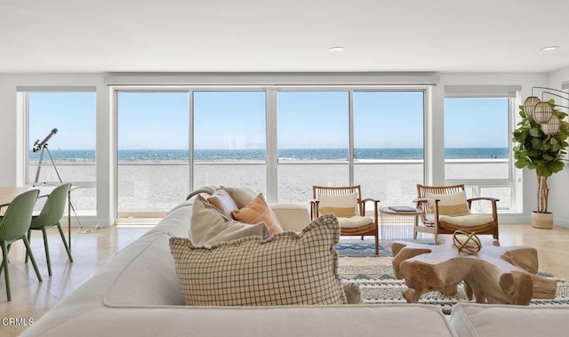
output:
[[501,209],[512,207],[512,105],[508,97],[445,99],[445,181],[465,183],[471,197],[498,197]]

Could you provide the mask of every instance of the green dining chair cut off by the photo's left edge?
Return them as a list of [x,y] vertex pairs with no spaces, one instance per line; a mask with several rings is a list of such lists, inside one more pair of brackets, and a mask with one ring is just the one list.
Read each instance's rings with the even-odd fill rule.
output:
[[32,213],[34,212],[34,205],[36,205],[36,198],[38,194],[38,189],[32,189],[20,194],[18,197],[15,197],[12,200],[12,203],[8,205],[4,216],[0,217],[0,245],[2,245],[2,265],[0,266],[0,274],[2,274],[2,270],[4,269],[8,301],[12,301],[12,293],[10,293],[10,272],[8,270],[8,253],[10,252],[10,247],[14,242],[24,240],[24,245],[26,245],[26,254],[34,265],[37,280],[39,282],[43,281],[41,275],[39,275],[34,254],[31,249],[29,249],[28,238],[26,238],[26,233],[28,232],[29,224],[32,220]]

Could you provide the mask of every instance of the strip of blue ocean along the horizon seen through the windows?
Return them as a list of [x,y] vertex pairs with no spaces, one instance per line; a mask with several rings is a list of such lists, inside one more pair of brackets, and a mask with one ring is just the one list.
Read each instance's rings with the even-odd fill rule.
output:
[[[53,161],[60,163],[94,163],[93,149],[51,149]],[[264,149],[196,149],[196,161],[262,161]],[[37,162],[39,152],[29,151],[29,160]],[[185,149],[121,149],[118,161],[136,162],[188,162]],[[445,148],[446,159],[508,158],[509,148]],[[347,148],[282,148],[278,157],[286,160],[342,160],[348,158]],[[356,159],[406,160],[422,159],[422,148],[356,148]],[[44,161],[49,160],[47,153]]]

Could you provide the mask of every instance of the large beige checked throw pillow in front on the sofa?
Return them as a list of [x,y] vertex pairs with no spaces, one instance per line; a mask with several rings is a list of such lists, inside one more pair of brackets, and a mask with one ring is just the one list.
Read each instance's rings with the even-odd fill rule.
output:
[[211,246],[171,237],[170,249],[187,305],[345,304],[335,250],[339,238],[338,221],[326,214],[301,233]]

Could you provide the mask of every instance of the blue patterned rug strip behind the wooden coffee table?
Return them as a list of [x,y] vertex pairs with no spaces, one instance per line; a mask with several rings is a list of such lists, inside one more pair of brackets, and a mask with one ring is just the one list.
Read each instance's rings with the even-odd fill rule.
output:
[[[394,241],[406,241],[423,245],[435,245],[434,238],[423,239],[382,239],[380,240],[380,256],[393,256],[391,253],[391,244]],[[365,257],[375,256],[375,242],[373,240],[344,239],[341,238],[340,244],[336,245],[336,251],[339,256],[349,257]]]

